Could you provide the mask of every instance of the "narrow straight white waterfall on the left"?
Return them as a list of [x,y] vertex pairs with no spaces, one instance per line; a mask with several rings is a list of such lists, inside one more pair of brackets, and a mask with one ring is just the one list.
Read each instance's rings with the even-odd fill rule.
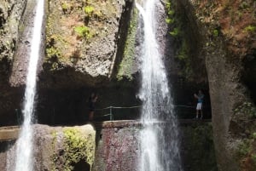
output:
[[25,102],[22,110],[24,122],[22,123],[20,136],[17,141],[15,171],[33,170],[33,105],[36,94],[36,77],[41,44],[43,16],[44,0],[38,0],[36,7],[36,15],[34,17],[32,42],[29,54],[29,65],[26,76]]

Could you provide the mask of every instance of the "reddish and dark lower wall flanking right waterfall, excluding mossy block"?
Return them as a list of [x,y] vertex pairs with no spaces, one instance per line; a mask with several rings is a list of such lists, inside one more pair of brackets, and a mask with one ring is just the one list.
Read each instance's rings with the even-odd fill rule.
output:
[[[96,125],[95,171],[139,170],[138,122],[106,122]],[[184,171],[217,171],[212,125],[180,123],[181,156]]]

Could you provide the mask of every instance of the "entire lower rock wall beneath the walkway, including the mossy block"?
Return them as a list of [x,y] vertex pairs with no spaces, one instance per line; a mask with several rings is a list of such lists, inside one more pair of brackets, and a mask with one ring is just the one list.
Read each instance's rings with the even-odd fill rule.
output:
[[[116,121],[75,127],[34,126],[34,170],[138,170],[142,123]],[[184,171],[216,171],[212,125],[181,122]],[[0,169],[14,167],[15,141],[0,143]],[[8,159],[9,158],[9,159]]]

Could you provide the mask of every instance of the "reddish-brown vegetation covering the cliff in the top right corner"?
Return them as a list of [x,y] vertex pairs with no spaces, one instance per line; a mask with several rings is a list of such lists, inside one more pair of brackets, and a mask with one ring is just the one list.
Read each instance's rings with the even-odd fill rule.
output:
[[244,57],[255,53],[256,2],[253,0],[191,1],[196,17],[209,26],[209,35],[224,37],[230,51]]

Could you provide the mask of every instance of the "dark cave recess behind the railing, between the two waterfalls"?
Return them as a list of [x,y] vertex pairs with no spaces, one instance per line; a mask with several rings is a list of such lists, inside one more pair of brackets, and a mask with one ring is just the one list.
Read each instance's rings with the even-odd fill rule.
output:
[[114,120],[133,120],[139,117],[140,108],[113,108],[141,105],[136,88],[113,86],[101,88],[39,89],[38,123],[49,125],[74,125],[88,123],[89,97],[98,94],[94,121],[109,121],[110,112]]

